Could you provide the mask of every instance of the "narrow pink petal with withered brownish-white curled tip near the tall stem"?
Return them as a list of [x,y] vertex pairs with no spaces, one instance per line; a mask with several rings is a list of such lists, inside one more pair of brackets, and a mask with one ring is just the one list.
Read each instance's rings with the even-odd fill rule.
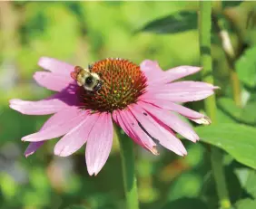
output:
[[203,115],[202,113],[194,111],[192,109],[188,109],[186,107],[183,107],[182,105],[176,104],[169,100],[145,100],[145,101],[153,105],[156,105],[162,109],[178,112],[182,116],[188,119],[191,119],[194,122],[199,124],[209,125],[212,123],[211,119],[209,119],[207,116]]

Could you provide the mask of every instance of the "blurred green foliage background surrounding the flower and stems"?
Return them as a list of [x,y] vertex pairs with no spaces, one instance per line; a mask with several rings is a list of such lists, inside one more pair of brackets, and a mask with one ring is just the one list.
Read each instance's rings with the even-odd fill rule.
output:
[[[41,56],[81,66],[107,57],[138,64],[144,59],[157,60],[164,70],[199,66],[198,10],[198,2],[0,2],[1,209],[74,208],[74,204],[90,209],[123,208],[116,141],[96,177],[87,173],[84,148],[71,157],[54,157],[56,139],[26,159],[23,154],[28,143],[20,138],[37,131],[48,117],[22,115],[9,109],[8,100],[39,100],[52,93],[33,81]],[[214,2],[212,16],[213,70],[216,84],[222,87],[217,95],[218,120],[254,127],[255,11],[255,2]],[[233,52],[225,49],[223,39],[227,37],[222,31],[228,32]],[[231,83],[236,81],[230,80],[231,71],[240,82],[236,93],[241,102],[231,100]],[[200,80],[200,75],[187,79]],[[202,110],[202,102],[187,105]],[[154,157],[136,147],[141,208],[217,208],[207,146],[184,144],[189,153],[184,158],[164,149]],[[234,202],[244,192],[235,173],[241,165],[230,156],[225,162]],[[255,195],[255,188],[253,191]]]

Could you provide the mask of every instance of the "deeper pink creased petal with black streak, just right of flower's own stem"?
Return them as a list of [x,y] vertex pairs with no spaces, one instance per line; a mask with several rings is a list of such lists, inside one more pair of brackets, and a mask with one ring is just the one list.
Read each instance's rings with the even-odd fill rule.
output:
[[130,138],[133,138],[134,142],[148,149],[154,155],[158,155],[156,144],[139,126],[138,121],[129,110],[114,111],[113,119]]

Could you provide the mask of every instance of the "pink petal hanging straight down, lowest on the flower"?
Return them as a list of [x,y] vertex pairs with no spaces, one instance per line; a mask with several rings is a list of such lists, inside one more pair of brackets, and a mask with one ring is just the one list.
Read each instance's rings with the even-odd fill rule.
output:
[[85,150],[90,176],[97,175],[109,157],[113,143],[113,122],[110,113],[102,113],[92,128]]

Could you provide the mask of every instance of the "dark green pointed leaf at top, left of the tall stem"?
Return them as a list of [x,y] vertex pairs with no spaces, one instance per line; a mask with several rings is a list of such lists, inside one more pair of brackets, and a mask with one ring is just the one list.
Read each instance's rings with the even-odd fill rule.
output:
[[181,33],[196,28],[196,12],[182,11],[154,20],[144,25],[139,31],[150,33]]

